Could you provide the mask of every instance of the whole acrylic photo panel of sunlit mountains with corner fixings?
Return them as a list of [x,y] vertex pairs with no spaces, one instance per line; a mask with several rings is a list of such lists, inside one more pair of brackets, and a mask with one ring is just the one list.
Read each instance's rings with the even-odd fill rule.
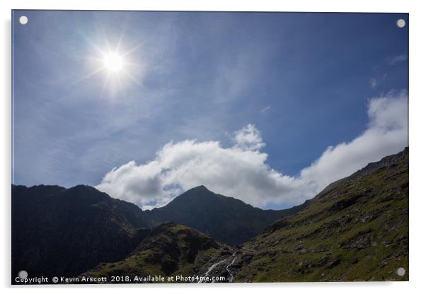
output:
[[12,11],[11,283],[408,281],[408,25]]

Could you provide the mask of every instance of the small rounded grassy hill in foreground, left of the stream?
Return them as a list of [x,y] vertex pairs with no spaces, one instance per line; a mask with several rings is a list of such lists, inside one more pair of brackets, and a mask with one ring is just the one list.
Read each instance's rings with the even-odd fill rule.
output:
[[[119,262],[103,263],[81,275],[95,278],[129,276],[134,277],[182,276],[190,278],[201,269],[206,269],[212,256],[224,248],[211,237],[185,225],[172,222],[161,223],[137,246],[129,256]],[[80,278],[81,278],[80,277]],[[190,280],[187,280],[187,282]],[[197,280],[195,280],[197,281]],[[150,281],[136,281],[149,283]],[[164,282],[184,282],[167,281]]]

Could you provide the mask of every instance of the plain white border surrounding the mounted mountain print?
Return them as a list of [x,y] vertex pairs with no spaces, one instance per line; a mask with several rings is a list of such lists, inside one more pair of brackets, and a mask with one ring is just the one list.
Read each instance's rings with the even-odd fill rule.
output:
[[[76,286],[60,287],[61,291],[74,293],[90,293],[101,290],[105,293],[116,293],[120,288],[125,291],[173,292],[176,293],[218,293],[243,291],[258,293],[267,290],[271,293],[359,293],[380,291],[386,293],[417,293],[424,289],[423,274],[425,273],[425,218],[426,202],[423,185],[425,175],[425,90],[422,87],[425,75],[425,8],[421,1],[249,1],[249,0],[38,0],[38,1],[0,1],[1,6],[1,286],[6,291],[10,281],[10,191],[11,191],[11,9],[82,9],[82,10],[173,10],[173,11],[318,11],[318,12],[405,12],[410,13],[410,282],[401,283],[275,283],[275,284],[216,284],[198,285],[144,285],[144,286]],[[36,293],[56,293],[58,286],[35,286]],[[23,287],[17,288],[23,290]],[[422,289],[422,290],[423,290]]]

